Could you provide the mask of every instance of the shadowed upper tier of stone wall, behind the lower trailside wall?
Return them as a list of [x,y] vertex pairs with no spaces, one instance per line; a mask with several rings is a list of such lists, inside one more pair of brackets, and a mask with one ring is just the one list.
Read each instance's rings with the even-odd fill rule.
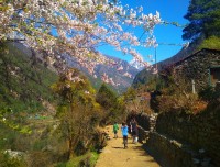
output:
[[156,132],[190,146],[194,153],[202,152],[206,159],[210,158],[215,166],[220,164],[220,100],[209,104],[206,111],[197,115],[176,111],[161,113]]

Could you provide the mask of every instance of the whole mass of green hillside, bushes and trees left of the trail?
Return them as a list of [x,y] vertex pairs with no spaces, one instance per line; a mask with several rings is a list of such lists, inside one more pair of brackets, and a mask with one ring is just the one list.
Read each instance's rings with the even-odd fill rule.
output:
[[[105,108],[96,102],[96,90],[79,70],[68,70],[73,78],[79,74],[84,78],[75,82],[67,74],[50,70],[29,49],[14,43],[0,46],[0,166],[85,162],[94,166],[105,146],[99,123],[113,122],[123,110],[117,96],[106,94],[110,88],[98,92],[109,102]],[[10,162],[6,152],[23,158]]]

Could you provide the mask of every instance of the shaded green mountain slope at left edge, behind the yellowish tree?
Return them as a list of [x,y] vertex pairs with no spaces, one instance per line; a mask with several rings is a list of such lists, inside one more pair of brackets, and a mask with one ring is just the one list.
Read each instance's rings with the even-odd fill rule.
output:
[[1,47],[0,109],[14,112],[46,110],[43,103],[53,100],[50,86],[57,79],[55,73],[32,60],[31,55],[22,53],[13,43]]

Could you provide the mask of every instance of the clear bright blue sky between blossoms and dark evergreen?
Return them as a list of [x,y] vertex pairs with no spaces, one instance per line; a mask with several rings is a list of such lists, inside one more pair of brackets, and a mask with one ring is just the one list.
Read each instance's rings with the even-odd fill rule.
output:
[[[122,4],[127,3],[134,9],[135,7],[142,5],[145,14],[155,14],[156,11],[158,11],[163,21],[178,22],[182,25],[187,24],[187,20],[184,19],[184,15],[187,13],[189,0],[122,0]],[[140,32],[135,33],[140,36]],[[157,43],[164,43],[164,45],[158,45],[156,48],[157,62],[169,58],[182,49],[182,46],[176,46],[186,43],[186,41],[182,40],[182,34],[183,29],[174,25],[157,25],[155,27],[154,35]],[[131,56],[124,56],[122,53],[114,51],[110,46],[100,47],[99,51],[103,54],[120,57],[128,62],[132,59]],[[154,56],[155,49],[140,48],[138,52],[146,57],[147,55]],[[147,60],[147,58],[145,58],[145,60]]]

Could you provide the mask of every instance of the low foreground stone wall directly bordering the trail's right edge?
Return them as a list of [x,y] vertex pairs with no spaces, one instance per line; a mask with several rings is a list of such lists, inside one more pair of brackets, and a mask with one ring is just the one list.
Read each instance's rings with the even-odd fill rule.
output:
[[200,163],[200,159],[195,156],[196,153],[190,147],[157,132],[150,133],[150,138],[145,145],[146,151],[163,167],[198,167]]

